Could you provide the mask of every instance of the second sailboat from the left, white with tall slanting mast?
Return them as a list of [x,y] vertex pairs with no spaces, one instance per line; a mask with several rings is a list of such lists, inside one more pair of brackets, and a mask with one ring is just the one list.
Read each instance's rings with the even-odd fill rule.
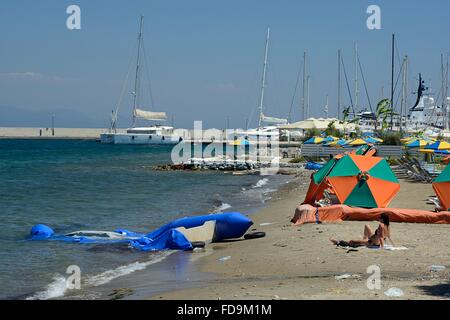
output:
[[[263,136],[267,138],[279,136],[279,125],[286,125],[288,123],[287,119],[275,118],[266,116],[264,114],[264,94],[266,88],[266,75],[267,75],[267,58],[269,54],[269,41],[270,41],[270,28],[267,28],[267,37],[266,37],[266,48],[264,54],[264,67],[263,67],[263,75],[261,81],[261,96],[259,100],[259,121],[258,128],[249,129],[246,131],[238,132],[239,136],[245,136],[246,138],[251,137],[252,139],[256,139],[258,136]],[[266,124],[266,126],[264,126]]]

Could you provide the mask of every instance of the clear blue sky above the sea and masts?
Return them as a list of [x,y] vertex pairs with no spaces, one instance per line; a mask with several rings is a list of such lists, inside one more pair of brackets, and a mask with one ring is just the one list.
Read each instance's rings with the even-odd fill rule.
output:
[[[381,8],[381,30],[366,10]],[[81,9],[81,30],[68,30],[66,8]],[[337,50],[354,88],[354,43],[372,105],[389,98],[391,35],[398,59],[408,55],[409,101],[418,73],[441,87],[441,53],[450,52],[450,2],[365,0],[2,0],[0,1],[0,127],[107,127],[134,63],[140,15],[148,78],[141,107],[168,114],[169,124],[205,128],[257,124],[266,30],[271,29],[264,113],[300,120],[303,52],[311,77],[311,117],[337,116]],[[147,72],[143,72],[143,79]],[[131,125],[132,72],[119,109]],[[368,100],[360,78],[360,104]],[[148,84],[150,83],[150,85]],[[381,96],[384,87],[384,96]],[[350,99],[345,79],[342,105]],[[296,94],[294,95],[294,92]],[[354,97],[353,97],[354,99]]]

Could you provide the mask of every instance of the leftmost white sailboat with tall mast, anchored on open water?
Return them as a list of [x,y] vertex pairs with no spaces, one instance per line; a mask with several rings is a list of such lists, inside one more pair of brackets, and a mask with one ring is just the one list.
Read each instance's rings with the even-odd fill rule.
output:
[[174,134],[174,128],[164,125],[137,126],[138,119],[146,121],[167,121],[165,112],[147,111],[139,107],[141,53],[143,46],[144,17],[141,16],[138,37],[138,52],[133,94],[133,124],[126,133],[117,132],[118,108],[112,114],[108,132],[100,134],[100,142],[108,144],[177,144],[183,139]]

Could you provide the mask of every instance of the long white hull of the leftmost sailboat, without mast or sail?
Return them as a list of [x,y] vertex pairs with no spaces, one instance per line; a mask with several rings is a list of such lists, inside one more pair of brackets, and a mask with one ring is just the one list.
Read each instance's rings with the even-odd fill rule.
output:
[[102,133],[100,142],[106,144],[168,144],[175,145],[183,141],[177,135]]

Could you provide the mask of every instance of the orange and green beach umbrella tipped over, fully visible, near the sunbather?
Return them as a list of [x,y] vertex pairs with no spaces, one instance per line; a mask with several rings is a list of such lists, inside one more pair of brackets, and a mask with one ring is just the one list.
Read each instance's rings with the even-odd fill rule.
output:
[[400,190],[384,158],[346,155],[326,177],[340,203],[362,208],[385,208]]

